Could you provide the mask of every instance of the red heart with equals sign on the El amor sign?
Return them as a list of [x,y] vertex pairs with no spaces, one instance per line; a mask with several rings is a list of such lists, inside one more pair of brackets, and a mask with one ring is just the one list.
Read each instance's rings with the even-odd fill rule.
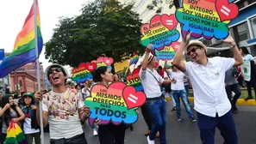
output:
[[172,15],[166,15],[166,14],[162,15],[161,16],[161,22],[170,31],[172,31],[172,29],[178,25],[178,21],[177,21],[174,14],[172,14]]

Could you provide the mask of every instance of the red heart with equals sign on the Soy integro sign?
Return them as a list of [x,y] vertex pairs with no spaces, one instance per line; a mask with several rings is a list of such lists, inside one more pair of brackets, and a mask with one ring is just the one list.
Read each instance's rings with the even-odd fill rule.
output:
[[238,7],[234,3],[228,3],[228,0],[217,0],[215,6],[221,21],[232,20],[238,15]]

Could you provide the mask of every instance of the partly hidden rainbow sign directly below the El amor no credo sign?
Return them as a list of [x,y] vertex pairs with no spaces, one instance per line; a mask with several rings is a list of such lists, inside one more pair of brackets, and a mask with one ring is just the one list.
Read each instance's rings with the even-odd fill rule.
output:
[[175,56],[176,51],[178,51],[179,45],[180,44],[177,41],[173,42],[172,45],[165,46],[165,48],[161,51],[155,50],[155,55],[159,60],[171,60]]

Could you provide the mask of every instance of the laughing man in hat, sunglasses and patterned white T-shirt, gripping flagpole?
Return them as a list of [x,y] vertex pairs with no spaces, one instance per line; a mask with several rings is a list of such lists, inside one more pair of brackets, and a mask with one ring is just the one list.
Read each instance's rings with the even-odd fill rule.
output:
[[[59,64],[47,67],[46,77],[53,90],[42,94],[37,92],[34,99],[41,100],[43,126],[50,126],[51,144],[87,144],[81,121],[90,114],[89,107],[84,106],[82,93],[75,93],[65,86],[67,70]],[[39,106],[36,106],[39,108]],[[40,123],[40,111],[36,110],[37,122]]]

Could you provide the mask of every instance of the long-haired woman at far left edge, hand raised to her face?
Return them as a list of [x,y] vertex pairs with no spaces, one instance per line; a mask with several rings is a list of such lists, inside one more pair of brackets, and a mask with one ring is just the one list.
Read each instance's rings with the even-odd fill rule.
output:
[[22,112],[21,108],[14,103],[13,99],[14,97],[11,95],[6,95],[3,97],[2,107],[0,110],[0,117],[2,117],[3,122],[1,144],[3,144],[3,142],[5,141],[9,123],[11,121],[14,121],[21,125],[20,122],[22,122],[25,118],[25,115]]

